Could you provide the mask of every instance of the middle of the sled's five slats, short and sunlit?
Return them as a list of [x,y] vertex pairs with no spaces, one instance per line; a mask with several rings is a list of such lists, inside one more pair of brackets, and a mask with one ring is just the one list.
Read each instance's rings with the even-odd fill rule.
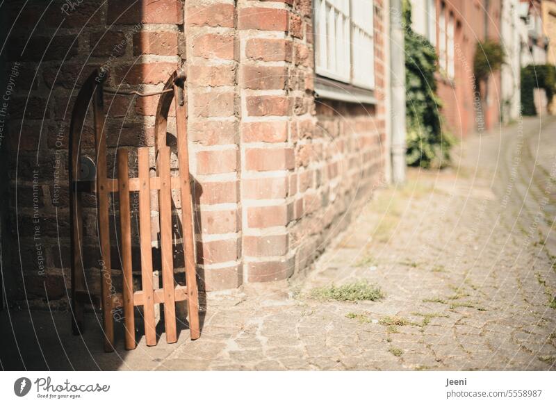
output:
[[[156,345],[156,322],[152,285],[151,246],[151,181],[149,176],[149,149],[138,149],[139,166],[139,231],[141,247],[141,283],[145,339],[147,346]],[[134,295],[135,297],[135,295]],[[140,304],[136,304],[140,305]]]

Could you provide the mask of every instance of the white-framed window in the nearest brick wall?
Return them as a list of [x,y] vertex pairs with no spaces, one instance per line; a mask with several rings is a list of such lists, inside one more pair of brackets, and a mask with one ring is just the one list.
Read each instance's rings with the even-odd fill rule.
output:
[[373,0],[316,0],[314,14],[316,73],[373,89]]

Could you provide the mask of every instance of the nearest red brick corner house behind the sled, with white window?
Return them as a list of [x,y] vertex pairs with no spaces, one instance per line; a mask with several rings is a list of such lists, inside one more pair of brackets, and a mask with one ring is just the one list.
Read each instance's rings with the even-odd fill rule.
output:
[[[2,237],[13,265],[8,302],[67,301],[67,133],[79,86],[95,67],[108,74],[105,88],[142,91],[160,90],[174,69],[186,69],[202,289],[302,271],[384,181],[385,3],[10,2],[3,14],[15,24],[5,62],[17,78],[10,142],[2,145],[10,179],[10,233]],[[157,101],[105,94],[109,167],[117,148],[153,145]],[[82,142],[93,148],[88,126]],[[85,265],[98,293],[94,197],[86,206]]]

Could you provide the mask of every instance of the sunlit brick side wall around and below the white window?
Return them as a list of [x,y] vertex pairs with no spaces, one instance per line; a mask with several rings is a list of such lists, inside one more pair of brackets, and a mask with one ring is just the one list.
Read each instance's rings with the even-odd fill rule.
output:
[[[309,112],[300,115],[295,130],[297,189],[291,199],[295,222],[291,246],[295,270],[302,271],[343,231],[384,181],[386,108],[384,17],[382,1],[375,1],[376,105],[313,99],[306,92]],[[307,24],[310,24],[307,21]],[[309,45],[309,52],[313,47]],[[309,58],[312,63],[312,55]],[[313,65],[302,69],[313,74]],[[313,111],[311,111],[313,110]]]

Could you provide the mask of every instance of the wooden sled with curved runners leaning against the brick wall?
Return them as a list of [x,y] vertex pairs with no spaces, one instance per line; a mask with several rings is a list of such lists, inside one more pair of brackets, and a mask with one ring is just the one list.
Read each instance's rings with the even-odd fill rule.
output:
[[[100,80],[99,80],[100,79]],[[83,265],[83,192],[94,192],[97,197],[97,220],[101,251],[101,308],[103,313],[104,349],[114,349],[113,311],[123,307],[125,322],[125,347],[136,347],[134,307],[142,306],[145,318],[145,340],[147,345],[156,345],[154,305],[163,304],[167,342],[177,340],[175,302],[187,301],[190,337],[197,339],[199,330],[199,300],[195,270],[195,244],[193,232],[193,206],[189,179],[188,144],[186,133],[185,82],[182,69],[174,72],[159,92],[104,90],[112,94],[136,94],[149,97],[160,94],[156,108],[155,148],[157,152],[156,176],[149,176],[149,148],[138,148],[138,177],[129,178],[128,152],[117,151],[117,179],[108,179],[106,165],[106,117],[103,108],[103,81],[95,69],[83,84],[74,104],[70,125],[70,217],[72,255],[72,325],[74,333],[83,331],[83,312],[86,303],[95,304],[86,286]],[[170,147],[166,145],[167,117],[172,100],[176,99],[177,157],[179,176],[170,177]],[[95,127],[95,162],[81,154],[80,130],[85,115],[92,103]],[[183,254],[186,263],[186,286],[174,282],[172,260],[172,189],[181,193],[181,223],[183,229]],[[160,217],[163,287],[153,286],[151,251],[151,190],[158,191]],[[123,290],[117,292],[112,283],[111,242],[108,204],[110,193],[119,193],[120,238]],[[139,195],[141,290],[133,289],[131,263],[131,213],[130,192]],[[188,203],[186,203],[188,201]]]

